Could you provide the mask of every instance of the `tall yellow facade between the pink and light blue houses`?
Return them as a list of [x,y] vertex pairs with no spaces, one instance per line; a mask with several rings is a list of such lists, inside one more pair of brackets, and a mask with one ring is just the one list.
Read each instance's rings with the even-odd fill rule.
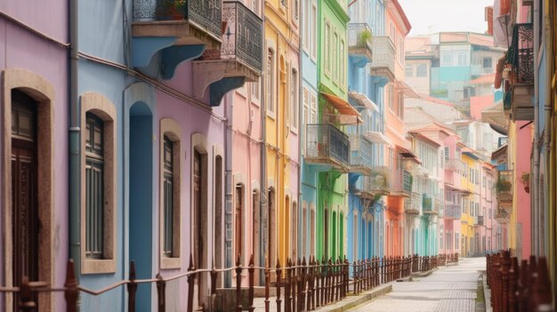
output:
[[[290,90],[298,66],[298,28],[294,12],[279,0],[264,2],[265,58],[264,101],[267,111],[267,187],[270,206],[270,265],[278,257],[284,267],[287,258],[295,258],[295,242],[291,237],[293,207],[297,207],[297,132],[293,132],[289,116]],[[298,92],[297,89],[295,88]],[[294,148],[295,147],[295,148]],[[294,249],[293,249],[294,248]]]

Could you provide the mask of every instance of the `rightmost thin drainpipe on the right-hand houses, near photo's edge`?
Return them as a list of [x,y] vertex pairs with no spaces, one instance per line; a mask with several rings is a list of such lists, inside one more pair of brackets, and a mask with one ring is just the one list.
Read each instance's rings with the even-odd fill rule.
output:
[[[544,1],[544,41],[545,41],[545,61],[547,62],[546,73],[545,73],[545,83],[551,84],[552,81],[552,74],[553,74],[553,43],[551,37],[551,20],[549,16],[549,2],[547,0]],[[552,116],[552,101],[551,101],[551,86],[547,86],[545,88],[545,103],[544,103],[544,149],[545,149],[545,172],[550,172],[550,164],[551,164],[551,116]],[[549,186],[549,174],[545,174],[545,186]],[[549,192],[544,192],[545,196],[549,196]],[[541,198],[541,200],[545,200],[545,198]],[[549,203],[549,201],[548,201]],[[540,213],[540,232],[546,238],[543,240],[544,245],[541,245],[540,248],[540,255],[545,255],[545,251],[549,251],[549,233],[546,230],[549,228],[549,204],[544,205],[544,212],[543,214]]]

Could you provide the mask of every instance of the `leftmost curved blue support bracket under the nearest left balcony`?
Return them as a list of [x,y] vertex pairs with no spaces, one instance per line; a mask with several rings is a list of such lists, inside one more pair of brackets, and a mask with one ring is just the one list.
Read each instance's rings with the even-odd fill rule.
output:
[[153,56],[160,50],[174,44],[178,38],[175,36],[142,36],[133,37],[133,67],[145,68]]

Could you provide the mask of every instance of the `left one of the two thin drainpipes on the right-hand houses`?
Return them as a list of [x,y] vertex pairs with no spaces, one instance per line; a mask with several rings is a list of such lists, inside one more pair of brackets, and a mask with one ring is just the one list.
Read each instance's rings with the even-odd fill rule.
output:
[[539,256],[539,249],[537,246],[537,242],[539,241],[539,223],[538,223],[538,216],[539,216],[539,212],[538,212],[538,208],[539,208],[539,196],[538,196],[538,188],[539,188],[539,149],[537,149],[537,144],[538,144],[538,136],[539,136],[539,131],[537,128],[537,125],[539,124],[539,107],[538,107],[538,86],[539,86],[539,70],[538,70],[538,60],[537,60],[537,53],[539,50],[539,37],[537,36],[538,34],[538,16],[537,16],[537,12],[538,12],[538,5],[539,5],[539,1],[534,1],[534,144],[532,146],[533,148],[533,158],[534,158],[534,162],[533,162],[533,170],[532,173],[534,175],[534,183],[532,185],[532,189],[533,189],[533,204],[532,207],[530,209],[530,216],[531,216],[531,221],[530,223],[532,224],[532,229],[531,229],[531,249],[532,249],[532,254]]

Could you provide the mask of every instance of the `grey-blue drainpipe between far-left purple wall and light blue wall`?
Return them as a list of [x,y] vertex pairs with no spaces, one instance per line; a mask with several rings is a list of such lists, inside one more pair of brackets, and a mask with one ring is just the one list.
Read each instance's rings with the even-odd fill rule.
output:
[[81,106],[79,104],[78,0],[69,0],[69,258],[74,260],[76,276],[81,273]]

